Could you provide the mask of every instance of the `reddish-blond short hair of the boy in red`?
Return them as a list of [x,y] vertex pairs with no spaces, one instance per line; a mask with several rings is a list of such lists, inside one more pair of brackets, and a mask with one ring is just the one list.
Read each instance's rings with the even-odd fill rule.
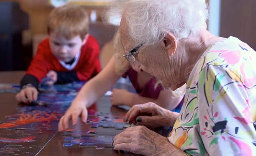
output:
[[48,17],[48,34],[56,32],[66,39],[77,35],[84,39],[89,32],[89,16],[87,11],[78,5],[67,4],[54,8]]

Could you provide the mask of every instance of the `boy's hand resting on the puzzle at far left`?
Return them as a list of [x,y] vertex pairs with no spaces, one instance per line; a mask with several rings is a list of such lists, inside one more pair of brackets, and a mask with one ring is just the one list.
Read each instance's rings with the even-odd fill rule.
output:
[[18,102],[31,103],[28,99],[37,100],[37,96],[38,92],[36,87],[25,87],[16,94],[15,98]]

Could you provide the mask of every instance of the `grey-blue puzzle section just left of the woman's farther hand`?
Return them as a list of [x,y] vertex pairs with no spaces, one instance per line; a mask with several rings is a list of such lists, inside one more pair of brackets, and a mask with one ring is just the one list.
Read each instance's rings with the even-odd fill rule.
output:
[[130,127],[128,123],[125,122],[113,122],[113,121],[100,121],[92,123],[92,128],[97,128],[98,126],[102,126],[103,128],[115,128],[115,129],[123,129]]

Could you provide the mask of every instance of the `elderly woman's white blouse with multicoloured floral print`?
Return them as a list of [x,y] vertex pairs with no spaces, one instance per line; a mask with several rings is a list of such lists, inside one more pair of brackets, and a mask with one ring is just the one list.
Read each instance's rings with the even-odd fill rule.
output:
[[193,156],[256,154],[256,52],[238,38],[210,46],[187,82],[168,140]]

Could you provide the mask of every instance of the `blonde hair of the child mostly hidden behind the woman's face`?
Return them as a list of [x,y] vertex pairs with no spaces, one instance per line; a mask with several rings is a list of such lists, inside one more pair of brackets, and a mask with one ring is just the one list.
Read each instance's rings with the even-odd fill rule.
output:
[[131,67],[131,65],[126,60],[126,58],[123,57],[125,48],[122,45],[119,30],[115,33],[113,41],[114,41],[114,49],[115,49],[115,72],[118,75],[122,75],[123,73],[125,73],[125,71],[127,71]]

